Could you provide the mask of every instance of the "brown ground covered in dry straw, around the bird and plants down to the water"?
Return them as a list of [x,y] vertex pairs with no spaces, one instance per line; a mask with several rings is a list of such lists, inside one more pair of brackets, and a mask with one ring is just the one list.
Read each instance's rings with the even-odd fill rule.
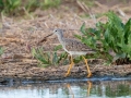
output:
[[[29,48],[43,46],[45,51],[52,51],[59,45],[56,36],[47,38],[38,45],[45,36],[52,33],[52,28],[66,29],[66,37],[72,38],[80,33],[83,22],[86,27],[95,26],[98,21],[106,22],[104,16],[94,19],[93,15],[100,15],[109,10],[115,11],[123,22],[131,16],[130,0],[95,0],[93,7],[86,7],[81,2],[66,0],[57,9],[46,11],[36,10],[33,15],[24,17],[3,16],[0,28],[0,46],[5,49],[0,58],[0,77],[9,78],[40,78],[60,79],[69,65],[38,68],[38,61],[31,54]],[[97,61],[97,60],[96,60]],[[94,60],[95,62],[95,60]],[[131,64],[127,65],[102,65],[103,63],[90,62],[93,76],[116,75],[128,76],[131,74]],[[79,74],[79,75],[78,75]],[[69,77],[86,76],[85,65],[74,65]]]

